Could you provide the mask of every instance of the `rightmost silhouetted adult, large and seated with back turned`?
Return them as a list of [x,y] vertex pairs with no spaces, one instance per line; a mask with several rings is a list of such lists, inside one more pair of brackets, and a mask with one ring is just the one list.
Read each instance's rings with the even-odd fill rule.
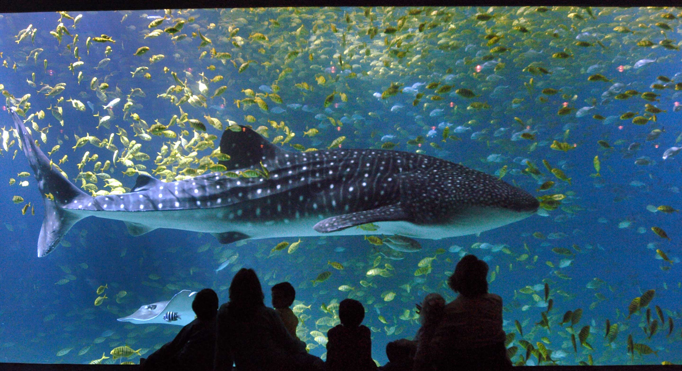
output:
[[464,256],[447,280],[459,293],[443,308],[430,342],[436,370],[509,370],[502,329],[502,298],[488,293],[488,264]]

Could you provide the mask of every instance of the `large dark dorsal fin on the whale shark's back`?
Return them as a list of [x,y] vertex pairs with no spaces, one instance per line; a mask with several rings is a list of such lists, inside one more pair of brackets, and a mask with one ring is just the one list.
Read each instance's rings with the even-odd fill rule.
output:
[[231,127],[240,129],[237,131],[235,131],[236,128],[227,129],[220,138],[220,152],[229,155],[230,159],[219,163],[227,167],[227,170],[258,167],[261,161],[269,162],[286,152],[265,140],[261,134],[256,133],[250,127],[241,125]]

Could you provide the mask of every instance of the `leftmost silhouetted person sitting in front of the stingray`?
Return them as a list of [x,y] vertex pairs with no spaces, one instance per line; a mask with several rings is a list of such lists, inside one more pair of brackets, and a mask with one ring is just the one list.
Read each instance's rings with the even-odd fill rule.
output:
[[182,327],[173,341],[141,362],[140,370],[213,370],[218,311],[216,291],[203,289],[196,293],[192,310],[196,319]]

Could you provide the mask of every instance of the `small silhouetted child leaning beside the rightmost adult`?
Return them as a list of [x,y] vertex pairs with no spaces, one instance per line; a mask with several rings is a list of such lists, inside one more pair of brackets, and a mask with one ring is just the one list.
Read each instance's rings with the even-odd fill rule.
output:
[[417,350],[415,351],[415,361],[413,371],[433,370],[433,357],[431,353],[431,340],[436,327],[443,317],[445,299],[439,293],[430,293],[424,297],[424,302],[419,306],[419,321],[421,327],[417,331]]

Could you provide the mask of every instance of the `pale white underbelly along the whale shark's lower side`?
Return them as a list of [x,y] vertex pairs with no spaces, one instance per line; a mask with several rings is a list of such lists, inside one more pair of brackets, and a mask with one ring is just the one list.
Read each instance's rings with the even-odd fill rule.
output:
[[[76,211],[76,210],[74,210]],[[233,208],[203,208],[191,210],[168,210],[148,212],[90,211],[78,210],[78,214],[138,223],[156,228],[182,229],[205,233],[237,231],[252,239],[309,236],[358,236],[358,235],[400,235],[414,238],[439,240],[456,236],[481,233],[527,218],[533,212],[511,212],[499,208],[469,208],[458,213],[449,223],[417,225],[409,221],[375,222],[376,231],[349,227],[330,233],[319,233],[313,226],[325,219],[323,215],[290,219],[240,219]],[[328,216],[326,216],[328,217]]]

